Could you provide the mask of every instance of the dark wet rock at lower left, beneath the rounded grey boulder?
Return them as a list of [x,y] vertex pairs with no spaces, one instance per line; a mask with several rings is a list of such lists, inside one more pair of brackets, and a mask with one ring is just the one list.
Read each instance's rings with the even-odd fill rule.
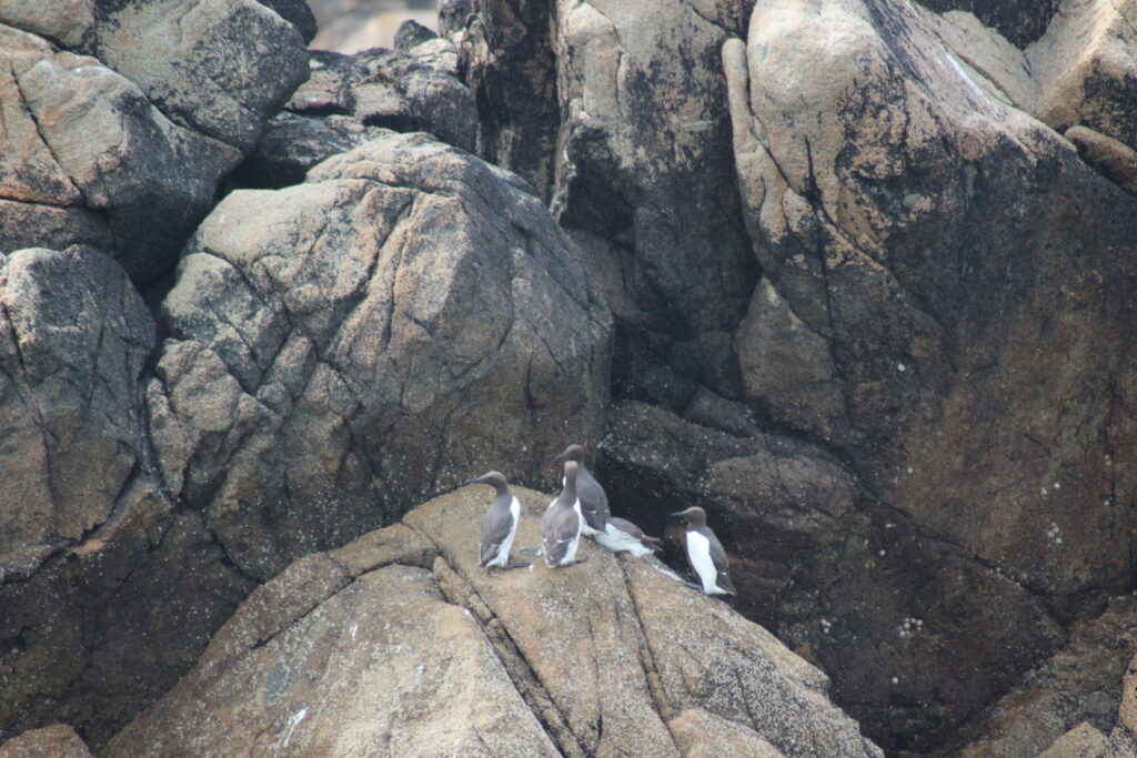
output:
[[107,526],[0,584],[0,740],[63,719],[99,749],[173,686],[254,586],[149,477]]

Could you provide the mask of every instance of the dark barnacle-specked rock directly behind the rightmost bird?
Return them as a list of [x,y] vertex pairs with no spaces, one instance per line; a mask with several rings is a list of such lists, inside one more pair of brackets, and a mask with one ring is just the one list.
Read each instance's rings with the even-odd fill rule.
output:
[[670,513],[707,508],[738,608],[833,672],[868,728],[958,718],[1062,642],[1036,597],[875,501],[832,455],[712,395],[688,416],[613,408],[598,460],[613,513],[659,534]]

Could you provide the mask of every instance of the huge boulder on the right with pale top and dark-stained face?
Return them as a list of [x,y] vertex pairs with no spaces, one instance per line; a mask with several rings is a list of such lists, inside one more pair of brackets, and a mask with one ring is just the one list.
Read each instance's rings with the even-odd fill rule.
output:
[[[1007,105],[918,7],[762,2],[724,67],[767,278],[735,335],[750,410],[1052,616],[981,625],[993,636],[973,655],[1002,661],[988,668],[919,652],[924,681],[898,677],[899,693],[866,692],[844,657],[838,692],[880,719],[872,732],[930,747],[1061,641],[1039,632],[1131,583],[1132,513],[1119,505],[1137,484],[1137,205]],[[954,573],[933,568],[926,592]],[[953,597],[957,628],[993,599]],[[945,694],[956,688],[970,694]]]

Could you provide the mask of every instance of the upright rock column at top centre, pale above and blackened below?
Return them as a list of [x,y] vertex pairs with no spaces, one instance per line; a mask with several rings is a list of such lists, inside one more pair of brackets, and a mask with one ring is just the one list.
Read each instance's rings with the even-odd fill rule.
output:
[[623,356],[614,389],[624,397],[681,408],[689,392],[671,386],[681,366],[695,369],[690,383],[735,363],[715,338],[745,315],[758,266],[728,178],[719,50],[741,33],[748,7],[556,5],[553,207],[613,309]]

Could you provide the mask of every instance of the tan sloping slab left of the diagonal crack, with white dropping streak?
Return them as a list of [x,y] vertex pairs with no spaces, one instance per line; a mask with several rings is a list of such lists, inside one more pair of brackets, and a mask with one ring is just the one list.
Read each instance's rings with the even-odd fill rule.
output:
[[[106,756],[555,756],[470,611],[406,527],[259,588]],[[362,573],[358,563],[370,566]]]

